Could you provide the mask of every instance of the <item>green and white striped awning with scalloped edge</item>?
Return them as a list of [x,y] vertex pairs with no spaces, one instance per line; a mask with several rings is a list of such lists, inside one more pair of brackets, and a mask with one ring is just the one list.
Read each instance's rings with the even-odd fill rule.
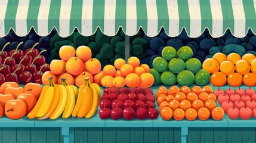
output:
[[11,28],[25,36],[32,27],[40,36],[54,27],[63,37],[75,28],[90,36],[98,27],[108,36],[119,27],[128,36],[140,27],[156,36],[164,27],[171,37],[184,28],[196,38],[208,28],[214,38],[227,29],[241,38],[249,28],[256,31],[255,12],[255,0],[1,0],[0,37]]

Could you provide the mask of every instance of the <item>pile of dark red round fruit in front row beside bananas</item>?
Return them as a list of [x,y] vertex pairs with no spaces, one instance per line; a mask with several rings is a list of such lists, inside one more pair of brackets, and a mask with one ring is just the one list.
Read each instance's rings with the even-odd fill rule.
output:
[[124,117],[132,120],[156,119],[159,116],[155,108],[155,97],[150,88],[106,88],[100,101],[101,119],[112,117],[114,120]]

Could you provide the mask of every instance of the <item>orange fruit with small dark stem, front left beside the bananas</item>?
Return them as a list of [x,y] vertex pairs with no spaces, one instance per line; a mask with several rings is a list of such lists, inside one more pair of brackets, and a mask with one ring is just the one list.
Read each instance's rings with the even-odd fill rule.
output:
[[21,119],[26,112],[27,106],[23,100],[10,100],[5,104],[5,115],[10,119]]

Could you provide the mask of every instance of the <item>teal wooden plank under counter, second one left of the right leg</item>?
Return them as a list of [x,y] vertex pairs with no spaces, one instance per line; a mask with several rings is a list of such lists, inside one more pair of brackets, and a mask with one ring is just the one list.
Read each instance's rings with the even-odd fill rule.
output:
[[173,128],[158,128],[158,142],[174,142]]

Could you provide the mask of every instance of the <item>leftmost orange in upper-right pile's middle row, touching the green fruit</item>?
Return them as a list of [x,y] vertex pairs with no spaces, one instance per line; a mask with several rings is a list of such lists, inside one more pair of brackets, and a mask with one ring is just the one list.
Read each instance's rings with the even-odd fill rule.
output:
[[214,58],[207,58],[203,61],[203,69],[209,71],[209,73],[214,73],[220,70],[220,63]]

